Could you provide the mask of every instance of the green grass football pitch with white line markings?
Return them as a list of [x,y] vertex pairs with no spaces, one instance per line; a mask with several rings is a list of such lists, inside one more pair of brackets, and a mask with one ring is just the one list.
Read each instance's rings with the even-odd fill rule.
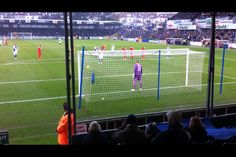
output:
[[[12,46],[19,47],[17,60],[13,59]],[[42,45],[42,59],[37,59],[37,48]],[[107,49],[126,46],[140,50],[166,49],[166,45],[137,43],[116,40],[75,40],[75,50],[93,50],[106,44]],[[89,91],[88,101],[82,101],[77,109],[77,120],[87,120],[127,114],[142,114],[172,109],[205,107],[208,79],[209,48],[190,48],[205,52],[201,69],[201,89],[184,86],[184,59],[162,58],[160,79],[160,100],[157,100],[157,58],[140,60],[143,65],[143,90],[131,92],[132,68],[135,60],[123,61],[104,57],[103,64],[89,64],[85,60],[85,75],[95,71],[95,83],[84,78],[84,88]],[[223,94],[219,94],[222,63],[222,49],[215,54],[215,105],[236,102],[236,51],[227,50],[223,77]],[[166,63],[164,63],[166,62]],[[184,62],[184,63],[183,63]],[[89,68],[86,67],[89,65]],[[78,94],[78,69],[75,59],[76,94]],[[58,120],[63,114],[62,104],[66,101],[66,70],[64,43],[57,40],[12,40],[9,46],[0,47],[0,129],[9,131],[10,144],[57,144],[55,132]],[[115,73],[118,71],[119,73]],[[168,75],[164,74],[167,73]],[[90,92],[91,91],[91,92]],[[76,99],[78,106],[78,97]]]

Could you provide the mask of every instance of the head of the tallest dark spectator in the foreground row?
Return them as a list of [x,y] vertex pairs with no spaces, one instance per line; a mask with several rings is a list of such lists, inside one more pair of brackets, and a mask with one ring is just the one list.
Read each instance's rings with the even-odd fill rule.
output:
[[170,111],[167,114],[169,126],[178,126],[181,123],[181,114],[178,111]]

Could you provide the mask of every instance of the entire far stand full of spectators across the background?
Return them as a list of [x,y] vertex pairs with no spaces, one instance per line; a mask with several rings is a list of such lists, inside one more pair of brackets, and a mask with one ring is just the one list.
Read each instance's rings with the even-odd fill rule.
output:
[[[210,38],[209,28],[197,28],[196,30],[168,30],[165,28],[166,21],[160,21],[159,23],[153,24],[150,21],[152,18],[161,18],[165,20],[180,20],[190,19],[195,23],[196,19],[206,19],[209,15],[202,15],[200,12],[179,12],[172,15],[162,15],[154,13],[111,13],[111,12],[78,12],[73,13],[74,20],[83,20],[81,24],[74,23],[74,32],[77,35],[83,37],[90,36],[113,36],[116,35],[119,38],[136,38],[141,37],[143,39],[155,39],[165,40],[166,38],[183,38],[189,41],[202,41],[203,39]],[[125,17],[128,16],[128,17]],[[0,13],[1,19],[15,19],[15,23],[11,23],[7,20],[1,20],[2,24],[0,35],[8,35],[9,32],[20,32],[26,31],[32,32],[33,36],[63,36],[63,14],[57,12],[9,12]],[[25,22],[26,17],[30,17],[31,21]],[[217,18],[221,19],[236,19],[234,12],[219,12]],[[18,20],[19,19],[19,20]],[[21,19],[21,20],[20,20]],[[33,19],[50,19],[47,23],[39,23]],[[129,25],[121,25],[124,20],[132,19],[133,22]],[[143,19],[143,20],[140,20]],[[57,23],[53,23],[53,20],[59,20]],[[61,20],[61,21],[60,21]],[[98,21],[117,21],[113,23],[99,24]],[[89,23],[87,23],[87,22]],[[134,23],[140,23],[140,26],[134,25]],[[161,26],[156,28],[157,24]],[[13,27],[14,25],[14,27]],[[17,25],[17,26],[16,26]],[[236,31],[235,29],[222,29],[216,30],[216,39],[235,41]]]

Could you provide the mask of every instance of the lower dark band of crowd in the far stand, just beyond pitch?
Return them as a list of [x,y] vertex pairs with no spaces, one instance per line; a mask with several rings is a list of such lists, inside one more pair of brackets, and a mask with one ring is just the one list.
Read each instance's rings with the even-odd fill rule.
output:
[[[10,32],[32,32],[33,36],[64,36],[61,28],[2,28],[0,35],[10,36]],[[121,29],[75,29],[75,34],[82,37],[88,36],[113,36],[123,38],[137,38],[149,40],[166,40],[166,38],[182,38],[189,41],[202,41],[211,37],[210,29],[201,30],[176,30],[158,29],[144,30],[142,28],[121,28]],[[236,30],[216,30],[216,39],[235,41]]]

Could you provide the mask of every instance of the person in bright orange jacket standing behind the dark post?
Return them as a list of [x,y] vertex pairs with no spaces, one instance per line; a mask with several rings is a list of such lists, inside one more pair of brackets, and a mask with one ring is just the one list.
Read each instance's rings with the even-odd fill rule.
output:
[[[58,133],[58,144],[60,145],[66,145],[69,144],[68,141],[68,105],[67,103],[63,104],[63,108],[64,108],[64,114],[62,115],[56,132]],[[74,115],[73,112],[71,110],[71,114],[70,114],[70,119],[71,119],[71,132],[72,134],[74,134]]]

